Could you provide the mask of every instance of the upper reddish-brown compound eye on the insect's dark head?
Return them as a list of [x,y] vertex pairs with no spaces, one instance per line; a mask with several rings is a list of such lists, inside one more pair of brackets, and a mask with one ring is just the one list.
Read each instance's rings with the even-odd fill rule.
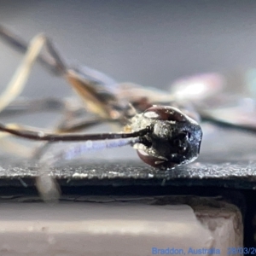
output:
[[148,119],[159,119],[165,121],[186,121],[185,116],[177,108],[173,107],[163,107],[163,106],[153,106],[148,108],[143,116]]

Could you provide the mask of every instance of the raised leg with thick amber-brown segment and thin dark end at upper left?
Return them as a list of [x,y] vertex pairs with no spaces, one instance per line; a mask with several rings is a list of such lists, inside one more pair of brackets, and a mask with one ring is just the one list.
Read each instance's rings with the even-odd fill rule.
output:
[[[23,40],[17,38],[14,34],[3,28],[3,26],[0,26],[0,36],[20,51],[25,51],[27,48]],[[120,107],[128,108],[127,106],[122,106],[124,104],[119,102],[118,97],[114,95],[113,91],[108,89],[108,86],[111,87],[116,84],[112,79],[90,68],[78,69],[67,67],[53,43],[45,36],[44,45],[52,60],[44,60],[44,55],[38,53],[38,61],[42,62],[44,60],[44,64],[47,63],[48,67],[55,71],[57,70],[59,74],[63,75],[67,82],[72,85],[73,90],[84,100],[84,105],[91,112],[96,113],[102,118],[119,118],[122,115],[122,113],[119,113]],[[118,110],[113,105],[117,105]]]

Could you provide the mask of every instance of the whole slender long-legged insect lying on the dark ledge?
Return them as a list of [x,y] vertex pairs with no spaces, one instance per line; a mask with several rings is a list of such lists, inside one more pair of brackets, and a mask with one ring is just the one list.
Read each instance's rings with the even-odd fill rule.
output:
[[[137,84],[119,84],[107,75],[88,67],[69,67],[55,49],[55,45],[42,34],[33,38],[29,45],[3,26],[0,26],[0,36],[10,46],[25,53],[15,76],[0,96],[0,111],[8,111],[9,105],[15,104],[17,96],[26,84],[34,61],[39,61],[50,73],[66,79],[83,102],[83,106],[79,105],[74,109],[69,108],[65,101],[54,102],[56,108],[65,109],[66,115],[55,131],[50,133],[24,125],[0,124],[0,131],[5,134],[46,142],[33,155],[41,159],[44,164],[43,169],[47,169],[56,161],[73,159],[91,150],[126,145],[136,148],[140,159],[155,168],[166,170],[187,164],[195,160],[200,152],[202,130],[195,121],[198,119],[198,113],[201,119],[210,120],[218,125],[255,131],[253,125],[237,123],[234,119],[223,119],[221,114],[212,112],[212,108],[205,108],[204,100],[211,99],[222,90],[222,80],[219,76],[207,76],[210,80],[207,86],[212,83],[211,88],[190,81],[189,86],[186,83],[179,83],[176,88],[174,84],[172,93],[166,93]],[[49,55],[41,52],[44,46]],[[193,96],[197,98],[193,99]],[[188,105],[187,100],[193,103],[196,111],[188,111],[188,108],[184,108]],[[31,104],[28,104],[27,108],[31,108]],[[44,102],[43,105],[49,105],[49,101]],[[93,113],[93,116],[78,121],[81,112],[84,117],[84,108],[87,112]],[[125,132],[78,133],[103,122],[119,127],[125,126]],[[84,143],[61,149],[57,154],[48,157],[45,151],[47,152],[49,145],[59,141]],[[48,172],[41,172],[41,177],[45,177],[45,173],[48,176]],[[38,187],[41,185],[46,187],[47,178],[45,180],[43,185],[39,183]],[[48,183],[51,183],[49,179]],[[44,188],[41,190],[44,190],[43,194],[47,194]]]

